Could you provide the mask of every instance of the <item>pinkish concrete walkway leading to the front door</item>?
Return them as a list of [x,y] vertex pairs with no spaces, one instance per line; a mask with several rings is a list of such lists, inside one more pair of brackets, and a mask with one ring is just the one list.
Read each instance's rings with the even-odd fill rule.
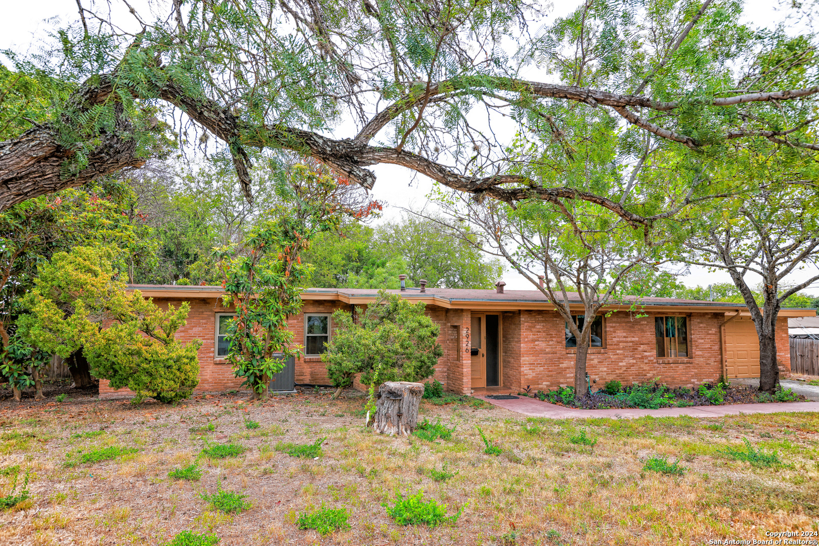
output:
[[[484,397],[482,397],[484,398]],[[594,417],[635,418],[635,417],[722,417],[740,413],[777,413],[777,412],[819,412],[819,402],[784,402],[771,404],[731,404],[726,406],[690,406],[689,408],[660,409],[574,409],[556,404],[541,402],[538,399],[521,396],[516,400],[493,400],[487,402],[500,408],[522,413],[529,417],[549,417],[551,419],[586,419]]]

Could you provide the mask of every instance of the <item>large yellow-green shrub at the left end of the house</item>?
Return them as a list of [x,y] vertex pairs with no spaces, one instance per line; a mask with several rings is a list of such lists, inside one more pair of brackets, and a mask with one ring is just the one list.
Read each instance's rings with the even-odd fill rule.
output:
[[[201,341],[183,344],[174,334],[184,326],[188,302],[167,311],[139,291],[128,294],[114,267],[117,250],[75,246],[38,266],[25,296],[29,313],[18,323],[26,341],[67,358],[82,348],[93,376],[114,389],[133,390],[161,402],[187,398],[197,386]],[[100,317],[115,318],[113,324]]]

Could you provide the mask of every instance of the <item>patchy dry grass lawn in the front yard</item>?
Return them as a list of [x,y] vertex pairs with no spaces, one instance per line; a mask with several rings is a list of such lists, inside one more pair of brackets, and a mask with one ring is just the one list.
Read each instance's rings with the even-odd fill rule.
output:
[[[364,398],[346,394],[333,401],[329,391],[308,391],[266,404],[208,395],[136,408],[3,402],[0,496],[11,494],[15,476],[19,492],[28,473],[31,498],[0,510],[0,544],[154,545],[183,530],[215,534],[220,546],[708,544],[819,531],[817,413],[556,421],[424,401],[422,417],[455,426],[450,440],[428,442],[373,434],[362,426]],[[476,425],[500,455],[484,453]],[[596,443],[572,443],[581,431]],[[323,437],[319,458],[276,449]],[[762,453],[776,450],[781,464],[726,453],[745,449],[744,438]],[[202,454],[215,444],[247,450]],[[646,470],[654,457],[685,470]],[[169,478],[194,463],[199,480]],[[430,469],[445,467],[454,476],[434,481]],[[246,494],[251,508],[209,507],[201,494],[219,489]],[[382,504],[418,492],[450,515],[463,508],[461,517],[434,528],[396,525]],[[298,516],[322,504],[346,508],[351,528],[299,530]]]

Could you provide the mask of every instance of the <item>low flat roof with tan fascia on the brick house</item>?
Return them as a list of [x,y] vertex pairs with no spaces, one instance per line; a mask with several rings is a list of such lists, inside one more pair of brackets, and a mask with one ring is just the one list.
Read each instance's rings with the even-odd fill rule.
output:
[[[142,291],[146,296],[167,298],[218,298],[224,295],[222,287],[212,286],[179,286],[132,284],[129,288]],[[554,309],[554,305],[541,291],[507,290],[498,294],[495,290],[477,290],[471,288],[407,288],[405,291],[387,290],[400,294],[409,300],[423,301],[428,305],[437,305],[446,309],[476,310],[516,310],[516,309]],[[303,300],[335,300],[346,304],[367,304],[378,297],[377,289],[369,288],[306,288],[301,293]],[[568,293],[569,305],[582,309],[581,300],[576,292]],[[744,304],[726,303],[724,301],[680,300],[676,298],[641,298],[620,296],[609,309],[630,309],[638,306],[652,308],[654,311],[698,310],[703,312],[736,314],[746,309]],[[784,309],[783,316],[799,317],[813,314],[813,309]],[[747,316],[748,312],[744,312]]]

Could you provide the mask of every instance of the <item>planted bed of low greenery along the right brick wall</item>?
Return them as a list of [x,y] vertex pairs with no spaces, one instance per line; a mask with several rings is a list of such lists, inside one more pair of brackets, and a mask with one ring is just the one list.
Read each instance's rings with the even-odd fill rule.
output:
[[797,395],[790,389],[779,390],[776,395],[759,392],[754,386],[705,384],[698,389],[686,387],[669,388],[663,384],[643,383],[623,388],[619,381],[609,381],[606,388],[590,396],[577,397],[572,387],[560,387],[558,390],[535,393],[521,392],[518,395],[529,396],[579,409],[612,409],[612,408],[687,408],[689,406],[721,406],[726,404],[767,404],[771,402],[807,402],[803,395]]

